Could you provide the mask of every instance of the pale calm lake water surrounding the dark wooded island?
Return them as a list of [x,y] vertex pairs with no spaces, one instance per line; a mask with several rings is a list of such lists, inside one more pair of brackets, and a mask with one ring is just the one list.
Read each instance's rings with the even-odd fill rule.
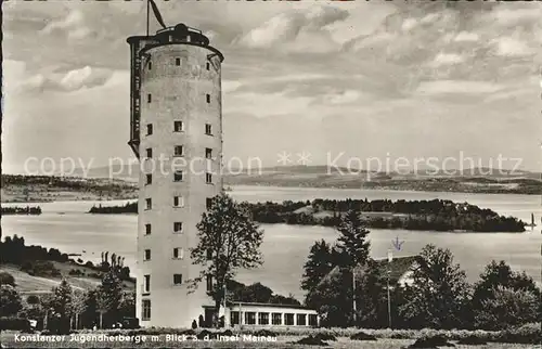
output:
[[[367,199],[451,199],[467,202],[482,208],[490,208],[500,215],[514,216],[530,222],[531,212],[535,222],[541,221],[541,201],[537,195],[512,194],[463,194],[437,192],[399,192],[380,190],[336,190],[270,186],[234,186],[229,194],[237,201],[282,202],[307,201],[313,198],[367,198]],[[113,206],[127,201],[101,202]],[[37,204],[42,209],[40,216],[4,216],[4,236],[24,236],[26,244],[39,244],[59,248],[63,253],[82,254],[83,260],[99,261],[101,253],[108,250],[126,257],[126,263],[133,270],[136,266],[136,215],[88,215],[92,205],[99,202],[55,202]],[[23,204],[2,204],[21,206]],[[59,215],[62,212],[63,215]],[[261,282],[275,293],[293,294],[302,299],[299,289],[302,266],[309,249],[315,241],[333,243],[338,233],[324,227],[298,227],[286,224],[262,224],[264,230],[261,246],[264,263],[261,268],[241,271],[237,281]],[[391,241],[404,241],[402,250],[396,256],[418,254],[427,244],[449,248],[466,271],[470,282],[477,280],[483,267],[492,259],[505,260],[515,270],[527,272],[541,282],[540,227],[527,233],[442,233],[405,230],[372,229],[371,255],[385,258]],[[83,253],[85,250],[85,253]]]

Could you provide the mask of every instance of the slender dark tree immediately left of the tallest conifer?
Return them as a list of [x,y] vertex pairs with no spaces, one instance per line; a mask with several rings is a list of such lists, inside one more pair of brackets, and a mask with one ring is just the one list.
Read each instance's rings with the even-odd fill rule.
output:
[[310,305],[310,294],[318,284],[333,269],[331,246],[324,241],[315,242],[310,248],[309,257],[305,263],[305,273],[301,279],[301,289],[307,292],[306,305]]

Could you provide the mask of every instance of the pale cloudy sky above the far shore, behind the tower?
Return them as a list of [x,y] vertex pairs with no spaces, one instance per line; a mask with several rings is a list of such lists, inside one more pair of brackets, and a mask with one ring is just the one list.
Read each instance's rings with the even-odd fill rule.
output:
[[[487,166],[501,156],[516,159],[504,167],[542,167],[541,4],[157,4],[166,24],[202,29],[224,54],[227,160]],[[29,158],[131,158],[126,38],[144,35],[144,2],[9,1],[3,11],[3,171],[24,172]]]

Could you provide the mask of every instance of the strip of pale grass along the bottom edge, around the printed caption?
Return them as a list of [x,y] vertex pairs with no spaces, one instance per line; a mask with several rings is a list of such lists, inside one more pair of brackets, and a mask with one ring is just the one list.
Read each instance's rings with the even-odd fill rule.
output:
[[[70,337],[67,335],[61,341],[21,341],[23,336],[33,336],[28,334],[21,334],[20,341],[15,340],[16,333],[3,332],[0,335],[0,340],[3,348],[314,348],[317,346],[297,345],[293,344],[299,340],[300,336],[279,336],[276,341],[250,341],[248,338],[240,337],[240,340],[234,341],[219,341],[219,340],[175,340],[175,338],[166,338],[166,335],[150,336],[143,335],[146,340],[140,342],[134,340],[122,341],[105,341],[105,340],[89,340],[81,342],[81,337]],[[89,334],[82,334],[89,335]],[[74,336],[81,336],[81,334],[74,334]],[[118,338],[118,337],[117,337]],[[169,339],[169,340],[167,340]],[[389,339],[379,338],[376,341],[360,341],[351,340],[349,338],[339,337],[336,341],[327,341],[326,348],[367,348],[367,349],[395,349],[404,348],[413,344],[413,339]],[[455,344],[455,348],[478,348],[478,349],[504,349],[504,348],[533,348],[532,345],[519,344],[499,344],[490,342],[482,346],[465,346]]]

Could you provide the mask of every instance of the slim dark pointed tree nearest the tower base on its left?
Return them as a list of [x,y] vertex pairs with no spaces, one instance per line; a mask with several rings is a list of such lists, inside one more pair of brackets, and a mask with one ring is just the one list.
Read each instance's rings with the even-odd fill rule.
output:
[[122,299],[122,282],[116,272],[109,270],[98,287],[98,310],[100,311],[100,328],[104,326],[103,315],[106,314],[106,326],[119,320],[119,307]]

